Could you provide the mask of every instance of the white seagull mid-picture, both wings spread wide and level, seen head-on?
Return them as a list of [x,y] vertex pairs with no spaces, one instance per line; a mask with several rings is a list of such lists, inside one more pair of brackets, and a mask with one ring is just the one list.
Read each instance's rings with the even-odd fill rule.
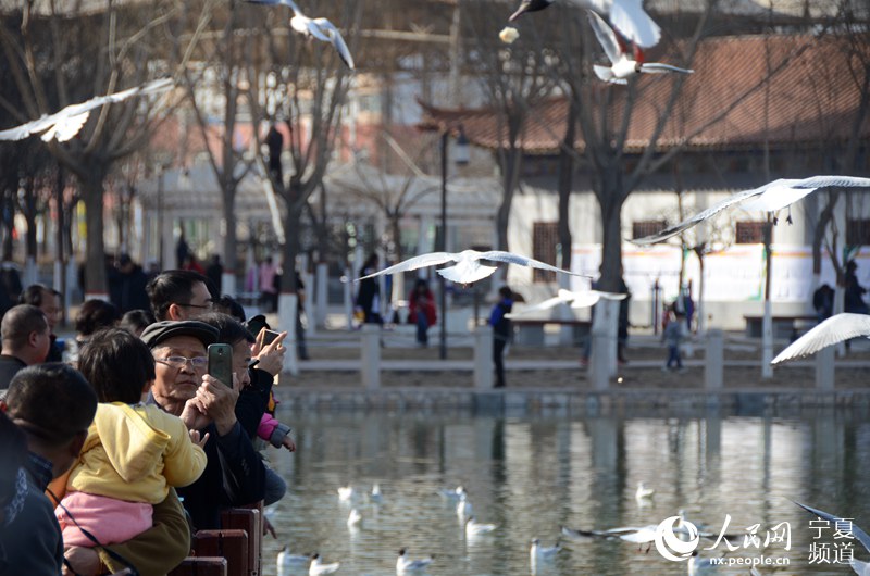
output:
[[357,278],[353,281],[382,276],[384,274],[396,274],[398,272],[410,272],[412,270],[424,268],[426,266],[437,266],[439,264],[447,264],[448,262],[456,262],[453,266],[438,268],[437,272],[445,278],[457,284],[471,284],[483,278],[486,278],[496,271],[496,266],[487,266],[481,264],[481,260],[492,260],[494,262],[505,262],[507,264],[519,264],[521,266],[530,266],[538,270],[546,270],[549,272],[561,272],[562,274],[571,274],[572,276],[588,277],[585,274],[576,274],[567,270],[550,266],[538,260],[521,256],[513,252],[505,252],[501,250],[490,250],[488,252],[477,252],[476,250],[463,250],[459,253],[453,252],[431,252],[428,254],[421,254],[419,256],[409,258],[405,262],[399,262],[382,271],[369,274],[362,278]]

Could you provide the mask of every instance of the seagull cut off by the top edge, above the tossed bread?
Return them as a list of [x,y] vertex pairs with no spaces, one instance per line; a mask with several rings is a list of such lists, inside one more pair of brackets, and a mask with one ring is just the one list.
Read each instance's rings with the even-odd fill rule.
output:
[[[555,0],[522,0],[520,8],[508,18],[513,22],[526,12],[549,8]],[[641,0],[569,0],[572,5],[585,8],[607,16],[619,33],[641,48],[650,48],[659,42],[661,29],[644,12]]]

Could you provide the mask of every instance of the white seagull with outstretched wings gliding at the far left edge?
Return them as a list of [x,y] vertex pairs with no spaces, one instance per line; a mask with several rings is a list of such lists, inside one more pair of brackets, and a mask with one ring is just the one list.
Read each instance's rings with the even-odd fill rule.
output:
[[80,104],[70,104],[60,112],[47,116],[44,115],[27,124],[0,132],[0,140],[23,140],[34,134],[42,133],[40,138],[46,142],[50,142],[52,139],[59,142],[65,142],[78,134],[82,126],[88,121],[90,111],[95,108],[113,102],[122,102],[134,96],[162,92],[169,90],[172,86],[172,78],[160,78],[121,92],[98,96]]

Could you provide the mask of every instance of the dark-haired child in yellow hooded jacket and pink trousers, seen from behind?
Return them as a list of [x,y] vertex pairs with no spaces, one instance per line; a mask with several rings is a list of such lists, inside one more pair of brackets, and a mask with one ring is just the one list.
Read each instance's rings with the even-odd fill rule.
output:
[[66,548],[124,542],[151,527],[152,504],[171,486],[199,478],[208,435],[200,441],[177,416],[140,403],[154,380],[154,359],[128,331],[92,335],[78,368],[100,404],[55,515]]

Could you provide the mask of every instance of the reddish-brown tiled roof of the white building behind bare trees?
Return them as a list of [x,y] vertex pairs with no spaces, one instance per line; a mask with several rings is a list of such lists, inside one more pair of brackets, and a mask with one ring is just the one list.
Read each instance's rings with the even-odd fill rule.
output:
[[[689,136],[691,147],[719,149],[745,148],[765,141],[776,146],[846,139],[855,123],[860,89],[842,50],[842,41],[806,35],[726,37],[704,41],[692,63],[695,74],[686,79],[658,146],[668,148]],[[662,57],[661,60],[680,64],[675,58]],[[852,68],[862,74],[859,62],[855,61],[857,59],[853,60]],[[767,87],[753,91],[721,122],[705,126],[741,95],[760,86],[769,74],[768,70],[781,62],[786,62],[785,66]],[[638,82],[627,151],[638,151],[648,146],[658,110],[670,95],[672,80],[649,74],[643,75]],[[598,89],[616,92],[611,115],[619,121],[626,89],[604,84]],[[422,102],[421,105],[426,117],[421,125],[423,129],[456,128],[461,124],[465,136],[476,146],[498,148],[505,143],[504,137],[499,137],[497,115],[493,109],[445,110]],[[552,153],[558,150],[567,113],[568,102],[562,97],[534,105],[521,139],[526,152]],[[700,132],[695,134],[697,130]],[[867,122],[860,126],[860,134],[870,136]],[[584,148],[581,130],[577,130],[575,148]]]

